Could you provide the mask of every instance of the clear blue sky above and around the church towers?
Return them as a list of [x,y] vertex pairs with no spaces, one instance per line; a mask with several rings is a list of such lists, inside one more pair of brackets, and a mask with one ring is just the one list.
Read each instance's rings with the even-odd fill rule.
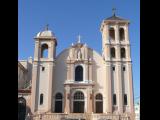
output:
[[49,24],[57,38],[57,55],[77,42],[101,54],[100,25],[116,15],[130,21],[129,37],[135,98],[140,96],[140,1],[139,0],[18,0],[18,60],[34,55],[34,37]]

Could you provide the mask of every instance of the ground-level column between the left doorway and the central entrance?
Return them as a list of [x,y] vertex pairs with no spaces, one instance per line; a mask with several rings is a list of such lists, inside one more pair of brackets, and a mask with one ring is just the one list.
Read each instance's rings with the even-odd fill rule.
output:
[[65,86],[64,89],[64,113],[70,113],[70,87]]

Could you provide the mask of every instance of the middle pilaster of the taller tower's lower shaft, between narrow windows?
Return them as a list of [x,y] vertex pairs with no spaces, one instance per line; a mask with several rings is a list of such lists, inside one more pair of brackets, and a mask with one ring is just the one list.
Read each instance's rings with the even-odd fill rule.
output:
[[122,93],[122,65],[117,63],[117,105],[119,113],[123,113],[123,93]]

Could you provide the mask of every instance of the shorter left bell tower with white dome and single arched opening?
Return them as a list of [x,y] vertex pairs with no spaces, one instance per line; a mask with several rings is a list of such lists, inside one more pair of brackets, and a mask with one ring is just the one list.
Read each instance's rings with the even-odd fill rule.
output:
[[48,25],[34,39],[31,111],[50,112],[57,40]]

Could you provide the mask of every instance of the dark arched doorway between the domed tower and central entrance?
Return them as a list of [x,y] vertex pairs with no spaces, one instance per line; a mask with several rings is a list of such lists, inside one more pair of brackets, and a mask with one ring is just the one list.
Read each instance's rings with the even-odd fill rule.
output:
[[62,113],[62,94],[57,93],[55,96],[55,112],[56,113]]

